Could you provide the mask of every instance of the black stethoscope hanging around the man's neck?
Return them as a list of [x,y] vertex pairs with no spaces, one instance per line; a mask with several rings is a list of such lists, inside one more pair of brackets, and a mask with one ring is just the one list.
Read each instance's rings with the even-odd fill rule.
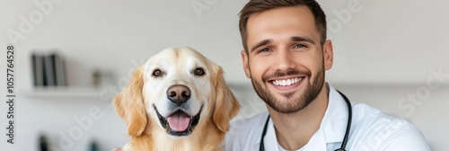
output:
[[[339,92],[339,91],[337,90],[337,92]],[[339,147],[338,149],[335,149],[335,151],[346,151],[345,148],[346,148],[346,144],[348,143],[349,131],[351,129],[352,107],[351,107],[351,102],[349,102],[348,97],[346,97],[346,95],[343,93],[339,92],[339,94],[343,97],[343,99],[345,99],[345,102],[348,105],[348,124],[346,127],[345,138],[343,138],[341,147]],[[267,118],[267,121],[265,121],[265,126],[263,127],[263,131],[262,131],[262,138],[260,138],[260,147],[259,147],[260,151],[265,151],[265,147],[263,145],[263,138],[265,138],[265,134],[267,134],[268,126],[269,126],[269,117]]]

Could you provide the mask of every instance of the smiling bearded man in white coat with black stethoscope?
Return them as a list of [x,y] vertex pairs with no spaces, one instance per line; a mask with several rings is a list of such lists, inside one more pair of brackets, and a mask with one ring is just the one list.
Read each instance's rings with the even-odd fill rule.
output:
[[225,150],[430,150],[408,121],[325,83],[333,48],[314,0],[251,0],[240,31],[245,74],[268,112],[234,122]]

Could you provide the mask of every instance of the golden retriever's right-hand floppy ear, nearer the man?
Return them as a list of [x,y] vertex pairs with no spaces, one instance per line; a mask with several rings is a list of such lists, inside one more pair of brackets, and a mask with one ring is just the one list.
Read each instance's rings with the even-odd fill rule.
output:
[[214,67],[216,74],[215,80],[215,93],[216,103],[214,106],[213,120],[216,127],[223,132],[229,131],[231,120],[240,109],[240,104],[237,102],[235,96],[231,92],[229,86],[225,83],[223,76],[223,69],[219,66]]

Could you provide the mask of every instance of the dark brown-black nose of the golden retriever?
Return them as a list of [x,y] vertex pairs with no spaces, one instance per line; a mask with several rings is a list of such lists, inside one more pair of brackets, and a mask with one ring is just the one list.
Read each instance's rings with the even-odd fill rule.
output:
[[175,103],[187,102],[190,98],[190,89],[186,85],[175,84],[167,90],[167,98]]

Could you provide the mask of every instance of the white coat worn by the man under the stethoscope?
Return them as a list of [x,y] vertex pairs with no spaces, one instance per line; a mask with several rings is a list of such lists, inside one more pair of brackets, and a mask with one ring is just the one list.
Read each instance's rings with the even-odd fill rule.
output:
[[[343,97],[329,85],[328,108],[304,151],[333,151],[341,146],[348,124],[348,107]],[[223,146],[226,151],[258,151],[268,111],[231,124]],[[280,151],[273,121],[264,138],[266,151]],[[352,102],[352,124],[348,151],[429,151],[422,133],[406,120],[383,114],[364,103]]]

